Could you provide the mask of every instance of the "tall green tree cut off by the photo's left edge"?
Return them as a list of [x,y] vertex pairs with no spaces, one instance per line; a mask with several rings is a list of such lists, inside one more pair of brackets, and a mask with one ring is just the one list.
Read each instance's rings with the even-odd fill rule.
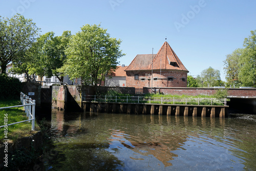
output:
[[32,19],[26,19],[22,15],[17,14],[10,19],[0,16],[1,73],[6,73],[8,63],[24,56],[35,41],[38,31]]

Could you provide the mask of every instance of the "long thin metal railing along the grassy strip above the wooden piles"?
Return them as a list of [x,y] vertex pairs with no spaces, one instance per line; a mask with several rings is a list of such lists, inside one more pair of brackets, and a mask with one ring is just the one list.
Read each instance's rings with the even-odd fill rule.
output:
[[192,104],[192,105],[227,105],[227,99],[216,98],[178,98],[178,97],[143,97],[143,96],[97,96],[84,95],[83,101],[150,103],[150,104]]

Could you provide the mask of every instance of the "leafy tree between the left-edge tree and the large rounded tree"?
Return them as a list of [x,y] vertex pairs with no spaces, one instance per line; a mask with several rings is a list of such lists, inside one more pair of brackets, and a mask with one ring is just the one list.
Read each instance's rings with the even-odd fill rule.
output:
[[57,76],[60,82],[63,81],[63,74],[57,69],[63,66],[66,60],[65,50],[67,48],[70,31],[64,31],[61,36],[55,36],[54,32],[48,32],[37,38],[31,48],[29,73],[38,75],[41,79],[44,76]]

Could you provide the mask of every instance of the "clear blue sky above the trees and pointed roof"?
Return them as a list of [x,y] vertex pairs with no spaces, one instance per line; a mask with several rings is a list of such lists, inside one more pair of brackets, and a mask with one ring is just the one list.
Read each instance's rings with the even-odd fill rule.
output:
[[244,38],[256,30],[256,1],[231,0],[2,0],[0,15],[20,13],[32,18],[41,34],[80,31],[86,24],[101,24],[111,37],[122,40],[128,66],[137,54],[157,53],[165,38],[189,75],[212,67],[223,70],[226,55],[243,47]]

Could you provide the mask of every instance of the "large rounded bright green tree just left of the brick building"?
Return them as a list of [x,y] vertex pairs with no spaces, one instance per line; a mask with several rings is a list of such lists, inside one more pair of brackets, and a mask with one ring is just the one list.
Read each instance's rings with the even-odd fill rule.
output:
[[85,25],[72,36],[66,50],[67,61],[59,72],[71,79],[81,78],[83,84],[97,87],[105,74],[116,69],[117,59],[123,56],[119,50],[120,39],[110,37],[100,25]]

